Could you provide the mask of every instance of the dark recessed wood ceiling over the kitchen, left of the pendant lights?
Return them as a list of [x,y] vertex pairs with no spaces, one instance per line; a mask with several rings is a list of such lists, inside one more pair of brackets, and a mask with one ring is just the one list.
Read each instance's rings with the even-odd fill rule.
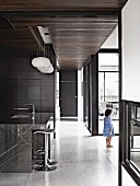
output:
[[34,55],[37,53],[37,43],[28,27],[0,30],[0,54]]

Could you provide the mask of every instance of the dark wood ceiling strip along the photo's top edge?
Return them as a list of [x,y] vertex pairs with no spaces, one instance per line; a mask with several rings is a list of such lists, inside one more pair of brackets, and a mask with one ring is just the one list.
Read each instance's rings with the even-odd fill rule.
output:
[[1,11],[120,10],[126,0],[1,0]]

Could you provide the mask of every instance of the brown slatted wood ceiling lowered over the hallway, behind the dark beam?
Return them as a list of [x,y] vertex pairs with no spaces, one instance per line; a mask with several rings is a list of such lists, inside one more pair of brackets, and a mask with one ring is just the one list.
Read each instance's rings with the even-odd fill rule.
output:
[[81,69],[97,53],[117,25],[117,16],[104,18],[12,18],[15,27],[48,26],[61,69]]

